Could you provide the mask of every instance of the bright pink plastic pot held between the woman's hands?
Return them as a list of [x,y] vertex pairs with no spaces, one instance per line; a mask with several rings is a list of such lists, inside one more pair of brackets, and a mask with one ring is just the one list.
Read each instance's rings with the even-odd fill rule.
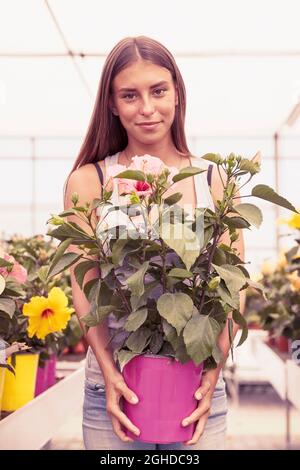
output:
[[137,426],[139,436],[126,430],[134,440],[168,444],[191,439],[195,424],[183,427],[182,420],[198,405],[194,393],[199,388],[203,363],[185,364],[165,356],[134,357],[123,369],[128,387],[139,398],[137,405],[124,400],[124,413]]

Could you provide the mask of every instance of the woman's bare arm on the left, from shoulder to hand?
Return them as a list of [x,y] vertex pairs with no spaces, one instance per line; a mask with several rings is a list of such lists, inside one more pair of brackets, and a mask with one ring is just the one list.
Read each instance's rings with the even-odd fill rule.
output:
[[[91,164],[87,164],[77,170],[75,170],[69,178],[66,193],[64,197],[64,209],[67,210],[73,206],[72,203],[72,194],[74,192],[78,193],[79,205],[84,205],[86,202],[92,202],[93,199],[99,197],[101,194],[101,187],[99,188],[99,179],[96,174],[96,169],[91,168]],[[96,225],[97,218],[96,214],[93,214],[93,222]],[[69,222],[76,222],[80,227],[85,231],[92,234],[90,227],[83,220],[79,219],[76,216],[68,216],[67,220]],[[82,253],[80,248],[76,245],[70,245],[68,251]],[[86,255],[85,255],[86,257]],[[97,257],[90,256],[91,259],[95,260]],[[90,302],[87,300],[83,290],[78,285],[74,269],[79,260],[70,268],[71,273],[71,284],[72,284],[72,294],[73,294],[73,304],[79,319],[80,325],[85,333],[86,340],[91,346],[96,359],[98,361],[99,367],[102,371],[105,385],[106,385],[106,410],[108,415],[111,418],[112,426],[115,434],[124,442],[132,442],[133,439],[126,436],[122,426],[129,429],[131,432],[139,435],[139,430],[132,422],[127,418],[125,413],[123,413],[120,407],[120,399],[124,397],[125,400],[131,404],[138,403],[138,399],[135,396],[134,392],[130,390],[117,368],[114,359],[113,352],[109,343],[109,331],[107,321],[101,323],[94,327],[90,327],[88,332],[83,323],[80,321],[80,318],[89,313],[91,309]],[[85,282],[88,282],[92,279],[100,277],[100,272],[98,268],[93,268],[87,272],[85,275]],[[109,344],[108,344],[109,343]]]

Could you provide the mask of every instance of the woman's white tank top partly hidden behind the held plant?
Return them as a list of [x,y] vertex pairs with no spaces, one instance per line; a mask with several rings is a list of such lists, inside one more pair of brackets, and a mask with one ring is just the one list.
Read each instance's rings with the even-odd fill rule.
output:
[[[115,153],[114,155],[108,155],[107,157],[105,157],[105,181],[104,181],[104,184],[106,184],[107,180],[108,180],[108,169],[110,168],[113,168],[115,165],[117,165],[119,163],[119,154],[120,152],[117,152]],[[208,169],[208,162],[206,160],[203,160],[202,158],[196,158],[196,157],[191,157],[191,163],[192,163],[192,166],[196,166],[196,167],[199,167],[203,170],[207,170]],[[210,188],[209,188],[209,185],[208,185],[208,181],[207,181],[207,172],[204,171],[203,173],[198,173],[197,175],[194,175],[193,176],[194,178],[194,183],[195,183],[195,189],[196,189],[196,207],[208,207],[210,209],[212,209],[213,211],[215,210],[215,207],[214,207],[214,202],[213,202],[213,199],[212,199],[212,195],[211,195],[211,191],[210,191]],[[186,180],[188,181],[188,180]],[[113,192],[112,192],[112,196],[111,196],[111,202],[114,206],[119,206],[119,205],[122,205],[122,197],[119,196],[119,191],[118,191],[118,181],[116,178],[113,178]],[[97,216],[100,217],[100,208],[97,209]],[[128,216],[126,214],[124,214],[122,211],[120,210],[117,210],[117,211],[112,211],[110,213],[107,214],[107,209],[102,209],[102,212],[101,212],[101,219],[105,216],[105,227],[114,227],[116,225],[119,225],[119,224],[124,224],[124,225],[127,225],[128,224],[131,224]],[[106,215],[107,214],[107,215]],[[98,223],[98,226],[97,228],[99,227],[99,224],[101,223],[101,221],[99,220],[99,223]],[[102,222],[103,224],[103,222]],[[135,216],[135,225],[139,226],[139,225],[142,225],[143,224],[143,219],[141,216]],[[101,225],[101,227],[103,228],[103,225]],[[97,231],[98,235],[99,235],[99,232]],[[108,253],[109,252],[109,245],[107,243],[106,245],[106,252]],[[111,313],[109,316],[108,316],[108,326],[109,328],[111,329],[116,329],[116,328],[120,328],[124,325],[126,321],[126,317],[123,317],[121,320],[117,321],[113,314]]]

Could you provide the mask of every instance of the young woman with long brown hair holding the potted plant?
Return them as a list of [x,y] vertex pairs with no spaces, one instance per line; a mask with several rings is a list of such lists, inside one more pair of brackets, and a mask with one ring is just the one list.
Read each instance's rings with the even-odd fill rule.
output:
[[[135,155],[153,155],[178,169],[195,162],[208,169],[207,162],[195,159],[188,149],[184,132],[185,110],[184,82],[166,47],[145,36],[125,38],[116,44],[105,61],[89,128],[65,184],[65,209],[72,206],[71,195],[75,191],[82,203],[99,197],[113,165],[128,166]],[[222,196],[217,171],[197,175],[193,184],[186,184],[187,181],[190,179],[179,182],[176,188],[183,194],[182,206],[213,208],[213,200]],[[118,188],[115,185],[113,197],[117,203]],[[96,217],[95,214],[95,222]],[[80,222],[73,216],[69,220]],[[242,236],[236,246],[243,257]],[[70,251],[76,249],[70,247]],[[73,301],[80,319],[90,306],[75,280],[74,267],[71,269]],[[97,276],[99,272],[91,270],[85,281]],[[200,397],[198,408],[186,417],[189,423],[196,423],[190,441],[148,444],[126,436],[125,428],[137,435],[139,430],[123,413],[122,400],[135,403],[138,397],[127,387],[113,360],[113,345],[106,348],[115,327],[113,319],[109,318],[106,323],[90,328],[86,334],[90,347],[83,407],[85,447],[102,450],[223,449],[227,405],[220,373],[222,364],[205,373],[197,390],[196,398]],[[219,345],[225,360],[229,351],[227,328],[220,335]]]

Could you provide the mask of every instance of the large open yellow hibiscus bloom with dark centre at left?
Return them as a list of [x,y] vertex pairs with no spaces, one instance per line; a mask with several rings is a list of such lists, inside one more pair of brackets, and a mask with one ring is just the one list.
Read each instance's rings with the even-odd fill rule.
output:
[[34,296],[24,304],[23,314],[29,317],[28,335],[44,339],[49,333],[66,328],[74,308],[68,308],[68,298],[59,287],[53,287],[48,297]]

